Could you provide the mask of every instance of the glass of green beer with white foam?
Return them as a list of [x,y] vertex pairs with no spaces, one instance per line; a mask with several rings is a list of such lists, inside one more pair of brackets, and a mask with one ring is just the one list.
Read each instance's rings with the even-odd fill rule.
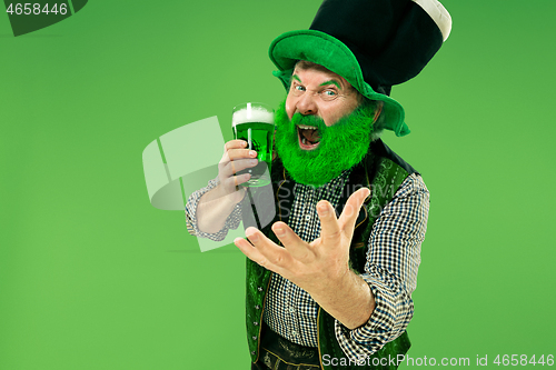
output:
[[247,149],[255,150],[259,161],[256,167],[241,170],[237,174],[251,174],[251,178],[246,183],[248,187],[269,184],[275,132],[272,108],[257,102],[234,107],[231,124],[234,138],[247,141]]

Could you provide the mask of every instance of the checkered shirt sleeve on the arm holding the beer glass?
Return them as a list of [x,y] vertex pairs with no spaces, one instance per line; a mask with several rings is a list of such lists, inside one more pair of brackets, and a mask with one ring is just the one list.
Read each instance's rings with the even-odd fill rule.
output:
[[220,231],[215,232],[215,233],[208,233],[208,232],[202,232],[197,227],[197,206],[199,204],[199,200],[201,199],[201,197],[206,192],[215,189],[218,186],[218,183],[219,183],[218,178],[210,180],[206,188],[202,188],[200,190],[195,191],[187,199],[186,222],[187,222],[187,231],[189,231],[189,233],[191,236],[196,236],[199,238],[208,238],[208,239],[214,240],[214,241],[220,241],[220,240],[224,240],[226,238],[226,236],[228,234],[228,230],[230,230],[230,229],[235,230],[238,228],[239,222],[241,221],[241,206],[240,206],[240,203],[238,203],[238,204],[236,204],[236,207],[234,207],[234,210],[226,219],[226,223],[224,224],[224,227]]

